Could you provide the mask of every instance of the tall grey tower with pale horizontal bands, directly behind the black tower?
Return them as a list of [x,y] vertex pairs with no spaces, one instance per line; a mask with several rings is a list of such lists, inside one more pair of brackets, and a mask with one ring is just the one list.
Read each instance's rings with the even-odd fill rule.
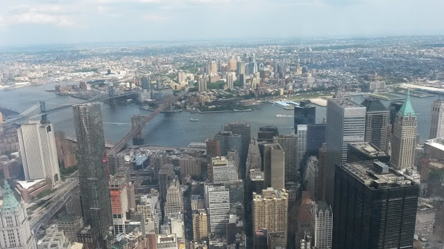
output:
[[348,98],[332,98],[327,102],[327,174],[325,201],[333,205],[334,170],[336,163],[347,160],[348,143],[364,142],[366,107]]

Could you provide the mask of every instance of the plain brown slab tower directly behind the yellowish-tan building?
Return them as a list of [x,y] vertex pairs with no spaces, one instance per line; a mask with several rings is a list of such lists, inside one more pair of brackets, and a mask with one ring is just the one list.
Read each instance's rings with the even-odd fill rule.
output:
[[264,185],[282,190],[285,176],[284,150],[278,144],[264,145]]

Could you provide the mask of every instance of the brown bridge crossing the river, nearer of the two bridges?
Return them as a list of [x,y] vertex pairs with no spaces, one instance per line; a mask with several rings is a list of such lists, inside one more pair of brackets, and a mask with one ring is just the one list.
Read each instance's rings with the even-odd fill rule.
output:
[[114,147],[112,147],[111,149],[108,150],[108,155],[115,155],[119,151],[121,151],[121,149],[123,149],[123,147],[125,147],[125,145],[128,144],[128,142],[131,139],[133,139],[138,133],[140,133],[142,131],[142,129],[144,129],[145,125],[148,124],[148,122],[150,122],[151,120],[153,120],[153,118],[155,118],[155,116],[157,116],[157,114],[164,111],[164,109],[167,109],[167,107],[169,107],[174,102],[178,102],[178,100],[180,100],[187,93],[188,93],[188,89],[186,89],[185,91],[183,91],[179,95],[175,96],[174,98],[171,98],[167,102],[162,103],[160,105],[160,107],[157,107],[157,109],[155,109],[149,115],[144,115],[144,118],[142,119],[142,125],[140,125],[139,127],[133,127],[126,134],[126,136],[124,136],[119,142],[117,142],[114,145]]

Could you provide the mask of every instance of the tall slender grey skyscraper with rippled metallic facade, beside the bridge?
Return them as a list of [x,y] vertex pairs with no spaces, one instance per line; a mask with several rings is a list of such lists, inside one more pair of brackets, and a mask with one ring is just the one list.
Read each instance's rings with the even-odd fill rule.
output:
[[108,177],[104,158],[105,138],[98,103],[73,106],[78,148],[78,180],[85,222],[99,230],[102,239],[112,226]]

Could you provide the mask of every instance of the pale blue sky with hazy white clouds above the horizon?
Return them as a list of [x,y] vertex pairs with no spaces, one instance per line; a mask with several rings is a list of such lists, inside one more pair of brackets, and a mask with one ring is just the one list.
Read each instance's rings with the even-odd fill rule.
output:
[[0,45],[442,35],[443,0],[0,0]]

